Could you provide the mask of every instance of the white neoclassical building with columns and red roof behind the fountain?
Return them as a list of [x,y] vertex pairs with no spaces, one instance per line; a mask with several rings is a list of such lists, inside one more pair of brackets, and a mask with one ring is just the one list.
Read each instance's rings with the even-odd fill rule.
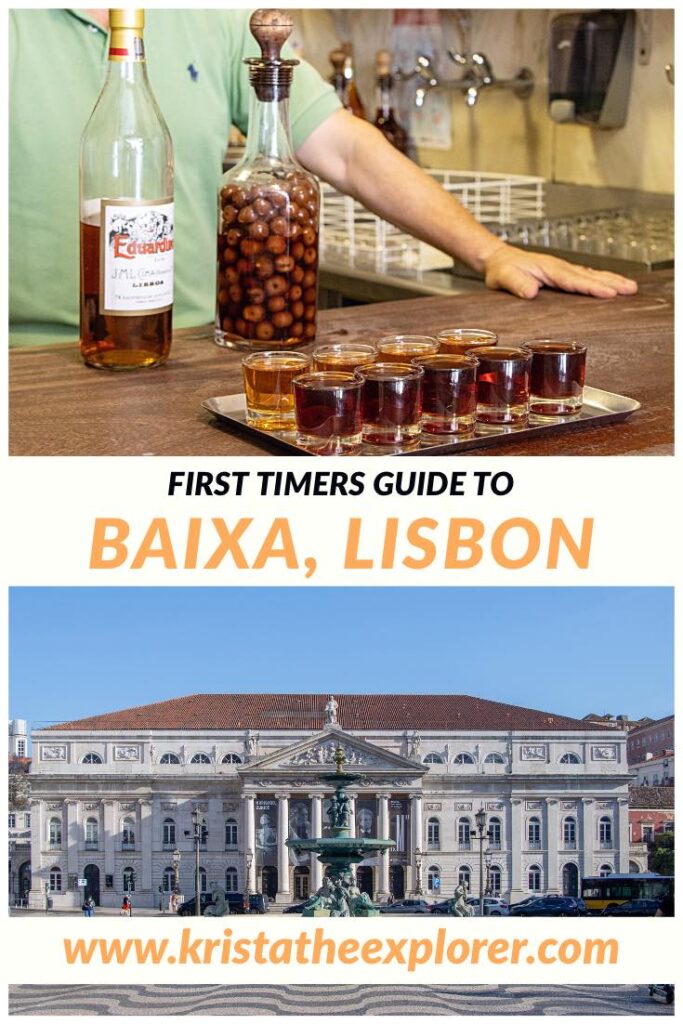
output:
[[85,882],[155,906],[175,871],[194,893],[196,810],[203,889],[302,899],[322,866],[285,840],[324,834],[338,744],[365,775],[356,835],[395,843],[358,867],[376,898],[478,893],[480,810],[490,892],[629,869],[626,732],[455,694],[196,694],[33,733],[31,903],[78,906]]

